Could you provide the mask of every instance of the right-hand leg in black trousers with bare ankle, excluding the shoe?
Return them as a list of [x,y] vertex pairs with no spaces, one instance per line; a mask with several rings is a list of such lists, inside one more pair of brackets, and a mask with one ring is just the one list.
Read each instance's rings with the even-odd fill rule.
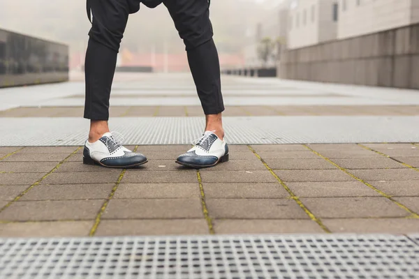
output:
[[215,130],[223,139],[221,112],[224,105],[219,56],[212,40],[210,4],[208,0],[166,0],[163,3],[186,45],[189,67],[207,119],[205,130]]

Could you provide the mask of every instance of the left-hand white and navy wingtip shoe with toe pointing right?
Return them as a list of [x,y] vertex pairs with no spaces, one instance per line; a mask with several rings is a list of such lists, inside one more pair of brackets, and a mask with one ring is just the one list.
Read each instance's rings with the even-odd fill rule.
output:
[[97,142],[86,141],[83,151],[83,163],[103,167],[130,168],[147,163],[147,158],[126,149],[115,139],[114,133],[105,133]]

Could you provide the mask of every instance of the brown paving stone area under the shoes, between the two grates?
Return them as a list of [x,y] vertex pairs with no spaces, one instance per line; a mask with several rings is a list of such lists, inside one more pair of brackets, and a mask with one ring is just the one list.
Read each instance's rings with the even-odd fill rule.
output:
[[188,146],[131,146],[138,169],[81,147],[1,147],[0,236],[419,232],[419,144],[233,145],[212,169]]

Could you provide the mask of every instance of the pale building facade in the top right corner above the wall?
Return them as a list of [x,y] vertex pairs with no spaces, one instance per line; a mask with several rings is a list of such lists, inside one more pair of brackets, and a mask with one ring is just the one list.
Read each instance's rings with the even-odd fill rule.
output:
[[362,36],[418,22],[418,0],[339,0],[337,38]]

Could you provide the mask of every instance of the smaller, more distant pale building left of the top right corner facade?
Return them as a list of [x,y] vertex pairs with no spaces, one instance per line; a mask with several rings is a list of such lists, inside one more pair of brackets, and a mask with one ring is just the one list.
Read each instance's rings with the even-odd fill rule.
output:
[[337,38],[337,0],[292,0],[288,13],[288,49],[317,45]]

